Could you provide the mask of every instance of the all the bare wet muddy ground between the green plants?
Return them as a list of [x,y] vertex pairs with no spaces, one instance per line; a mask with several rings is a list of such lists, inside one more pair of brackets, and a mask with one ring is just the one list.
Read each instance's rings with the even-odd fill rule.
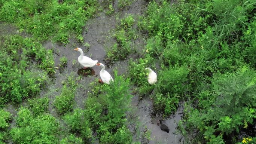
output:
[[[100,1],[101,2],[101,1]],[[106,48],[115,43],[113,39],[113,32],[115,31],[116,25],[119,22],[120,18],[127,14],[132,15],[142,15],[147,8],[148,2],[144,0],[134,1],[127,10],[119,11],[115,7],[115,13],[112,15],[106,15],[105,11],[100,12],[98,16],[94,19],[89,19],[82,36],[84,42],[87,42],[90,46],[86,48],[82,43],[77,42],[74,38],[69,39],[70,43],[67,45],[58,45],[53,44],[50,40],[43,43],[43,46],[46,49],[52,49],[55,55],[55,66],[59,67],[60,57],[66,56],[68,59],[67,67],[63,70],[58,69],[55,74],[55,78],[52,80],[52,84],[49,85],[48,89],[42,91],[40,97],[48,96],[50,99],[49,102],[49,111],[50,113],[59,119],[60,125],[64,125],[63,121],[60,119],[57,111],[53,107],[53,101],[56,95],[60,94],[60,89],[62,88],[62,83],[67,78],[67,76],[73,74],[75,77],[79,77],[82,71],[82,65],[77,61],[79,52],[74,51],[74,48],[82,48],[84,55],[91,57],[93,60],[98,60],[99,62],[105,64],[104,59],[106,55]],[[116,5],[116,4],[114,4]],[[0,24],[0,34],[20,34],[24,37],[29,37],[28,34],[19,33],[18,29],[12,25]],[[139,37],[135,40],[135,44],[138,49],[143,49],[146,41]],[[115,62],[112,67],[106,67],[106,70],[113,76],[113,70],[118,70],[118,74],[127,73],[128,59],[124,61]],[[82,76],[82,79],[79,80],[79,84],[83,87],[77,89],[75,94],[76,106],[84,108],[84,101],[86,100],[87,93],[89,91],[89,83],[93,82],[95,78],[100,78],[99,72],[101,67],[94,66],[92,67],[91,75]],[[115,79],[115,78],[114,78]],[[23,104],[25,104],[24,102]],[[134,141],[140,141],[142,144],[178,144],[181,136],[177,135],[176,127],[177,123],[181,119],[183,108],[180,106],[177,112],[170,118],[165,119],[164,123],[169,127],[170,132],[161,131],[157,125],[158,119],[161,117],[152,116],[153,108],[152,102],[150,99],[143,99],[139,101],[138,96],[134,96],[132,99],[132,109],[133,111],[129,113],[131,121],[128,123],[129,128],[134,132]],[[16,116],[18,106],[9,104],[5,107],[7,111],[10,111],[13,116]],[[15,120],[12,121],[11,126],[15,126]],[[150,140],[147,140],[143,135],[146,131],[150,131]],[[10,141],[9,144],[12,142]]]

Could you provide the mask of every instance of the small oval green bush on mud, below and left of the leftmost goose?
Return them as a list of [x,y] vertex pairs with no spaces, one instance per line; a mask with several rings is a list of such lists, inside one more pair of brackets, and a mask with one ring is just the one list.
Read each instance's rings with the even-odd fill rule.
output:
[[73,109],[74,92],[67,86],[63,86],[61,95],[56,96],[54,106],[60,114],[66,113]]

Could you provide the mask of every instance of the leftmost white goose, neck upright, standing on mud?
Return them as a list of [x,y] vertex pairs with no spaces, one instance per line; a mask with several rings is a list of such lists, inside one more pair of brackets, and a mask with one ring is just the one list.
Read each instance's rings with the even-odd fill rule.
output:
[[76,48],[74,50],[77,50],[80,52],[80,56],[78,57],[78,62],[83,65],[84,68],[93,67],[95,64],[97,64],[97,60],[92,60],[91,58],[83,55],[83,50],[80,48]]

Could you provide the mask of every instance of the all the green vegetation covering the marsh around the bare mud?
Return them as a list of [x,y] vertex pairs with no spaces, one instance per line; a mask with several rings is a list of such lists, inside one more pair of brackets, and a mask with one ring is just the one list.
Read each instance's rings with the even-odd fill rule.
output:
[[[0,144],[140,144],[133,141],[137,120],[138,131],[128,127],[134,93],[151,99],[163,119],[184,103],[178,130],[185,144],[256,143],[256,1],[159,0],[142,16],[122,13],[132,2],[0,0],[0,22],[30,34],[0,36]],[[56,67],[59,55],[41,43],[75,38],[89,48],[85,22],[103,8],[117,20],[124,16],[105,60],[129,59],[127,76],[115,72],[109,85],[76,71],[57,71],[55,79],[71,59],[60,57]],[[137,49],[140,40],[146,43]],[[158,75],[154,85],[146,67]],[[148,142],[151,131],[144,130],[135,137]]]

